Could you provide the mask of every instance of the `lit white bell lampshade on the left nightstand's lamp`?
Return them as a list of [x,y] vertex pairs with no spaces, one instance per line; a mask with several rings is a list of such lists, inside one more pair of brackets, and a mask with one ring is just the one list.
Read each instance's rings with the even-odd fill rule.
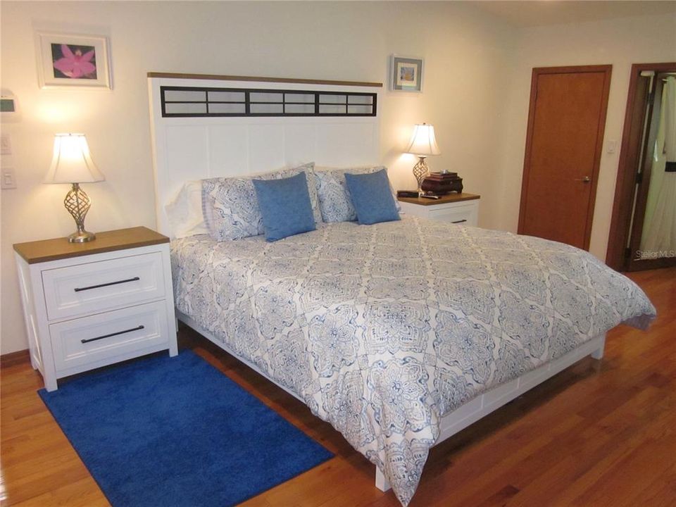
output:
[[92,183],[105,179],[92,161],[84,134],[54,136],[54,156],[45,183]]

